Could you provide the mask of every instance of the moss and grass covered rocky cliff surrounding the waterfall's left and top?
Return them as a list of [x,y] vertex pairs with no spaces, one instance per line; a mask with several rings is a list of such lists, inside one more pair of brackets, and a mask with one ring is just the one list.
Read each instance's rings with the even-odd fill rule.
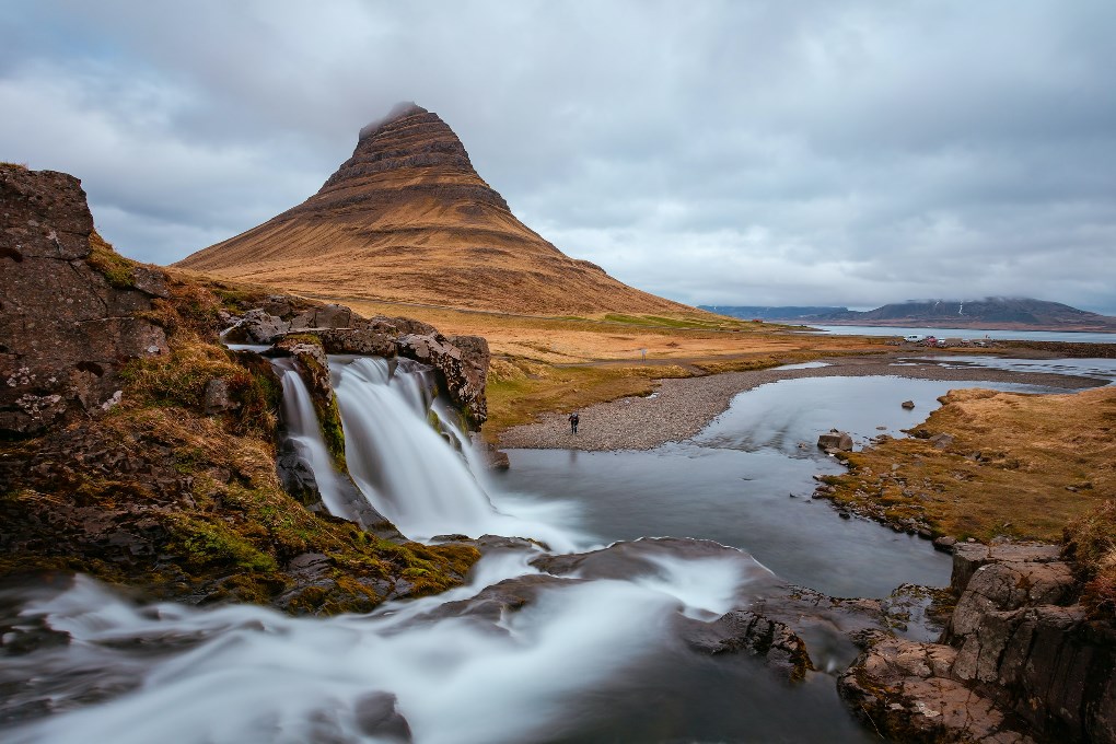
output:
[[[0,166],[0,580],[84,572],[314,613],[461,582],[474,548],[408,543],[389,524],[372,534],[285,491],[271,365],[218,342],[234,317],[289,330],[269,309],[327,339],[345,325],[336,342],[349,346],[386,325],[135,264],[93,231],[73,176]],[[392,332],[393,351],[417,334],[483,421],[480,341],[464,352],[404,319]]]

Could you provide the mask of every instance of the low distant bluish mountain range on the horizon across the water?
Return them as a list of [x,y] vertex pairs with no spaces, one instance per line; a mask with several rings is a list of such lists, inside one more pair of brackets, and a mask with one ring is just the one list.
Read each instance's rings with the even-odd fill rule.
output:
[[793,321],[806,325],[1116,332],[1116,318],[1079,310],[1060,302],[1047,302],[1032,298],[989,297],[983,300],[965,301],[918,300],[885,305],[864,312],[848,308],[722,306],[701,306],[701,308],[737,318],[762,318],[763,320]]

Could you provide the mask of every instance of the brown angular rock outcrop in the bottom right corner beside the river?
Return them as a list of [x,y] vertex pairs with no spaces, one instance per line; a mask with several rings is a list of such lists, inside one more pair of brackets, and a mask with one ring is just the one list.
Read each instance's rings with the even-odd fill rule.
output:
[[940,644],[882,634],[839,680],[853,709],[911,742],[1116,742],[1116,630],[1076,603],[1052,545],[954,547]]

